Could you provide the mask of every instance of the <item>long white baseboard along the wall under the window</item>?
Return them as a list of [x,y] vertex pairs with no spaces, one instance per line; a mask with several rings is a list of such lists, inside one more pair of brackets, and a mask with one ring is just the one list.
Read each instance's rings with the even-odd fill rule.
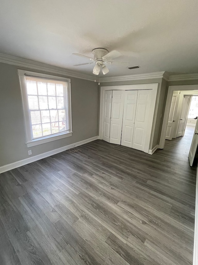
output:
[[30,158],[25,158],[23,160],[13,162],[11,164],[8,164],[8,165],[0,167],[0,173],[3,173],[5,171],[11,170],[11,169],[14,169],[16,167],[24,166],[26,164],[29,164],[31,162],[40,160],[42,158],[46,158],[46,157],[55,155],[57,153],[63,152],[63,151],[65,151],[67,149],[70,149],[72,147],[76,147],[76,146],[79,146],[79,145],[82,145],[82,144],[87,144],[87,143],[92,142],[92,141],[97,140],[97,139],[99,139],[99,136],[95,136],[95,137],[92,137],[92,138],[89,138],[89,139],[85,139],[83,141],[80,141],[80,142],[77,142],[77,143],[73,143],[73,144],[69,144],[69,145],[54,149],[54,150],[46,152],[46,153],[42,153],[42,154],[39,154],[39,155],[36,155],[36,156],[32,156]]

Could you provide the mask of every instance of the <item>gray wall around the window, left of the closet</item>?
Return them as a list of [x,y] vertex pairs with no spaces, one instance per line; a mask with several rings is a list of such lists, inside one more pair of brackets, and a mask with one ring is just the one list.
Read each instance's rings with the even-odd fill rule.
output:
[[0,63],[0,167],[98,135],[98,84],[71,77],[72,136],[27,148],[17,69],[57,75]]

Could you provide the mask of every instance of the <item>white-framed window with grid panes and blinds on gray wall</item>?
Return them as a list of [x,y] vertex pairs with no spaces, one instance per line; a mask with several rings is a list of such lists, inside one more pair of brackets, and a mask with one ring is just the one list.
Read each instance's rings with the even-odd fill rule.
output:
[[71,136],[70,79],[18,72],[28,147]]

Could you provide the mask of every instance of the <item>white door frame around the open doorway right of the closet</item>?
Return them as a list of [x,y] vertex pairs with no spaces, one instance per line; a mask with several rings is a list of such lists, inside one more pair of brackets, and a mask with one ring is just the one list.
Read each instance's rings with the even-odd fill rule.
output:
[[159,148],[163,149],[165,144],[165,138],[166,138],[166,128],[168,125],[168,118],[169,118],[169,112],[170,112],[170,105],[173,97],[173,91],[185,91],[185,90],[198,90],[198,85],[170,85],[168,87],[168,94],[166,98],[166,106],[164,111],[164,118],[161,128],[161,136],[160,136],[160,143]]

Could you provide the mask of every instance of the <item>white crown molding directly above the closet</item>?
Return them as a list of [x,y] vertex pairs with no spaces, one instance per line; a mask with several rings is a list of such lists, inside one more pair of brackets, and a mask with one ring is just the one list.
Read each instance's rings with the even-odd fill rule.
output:
[[154,72],[147,74],[137,74],[137,75],[121,75],[112,77],[102,77],[100,82],[114,82],[114,81],[131,81],[131,80],[143,80],[143,79],[154,79],[154,78],[164,78],[168,80],[169,74],[165,71]]

